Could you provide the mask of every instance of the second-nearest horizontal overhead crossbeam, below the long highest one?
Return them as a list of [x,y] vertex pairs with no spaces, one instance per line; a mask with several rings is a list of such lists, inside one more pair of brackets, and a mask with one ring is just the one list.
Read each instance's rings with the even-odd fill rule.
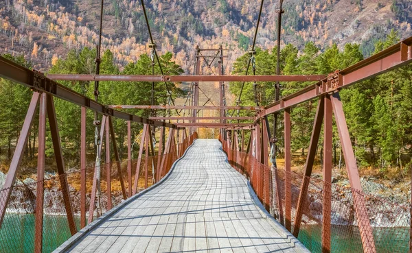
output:
[[261,110],[262,106],[147,106],[147,105],[111,105],[114,109],[187,109],[187,110]]

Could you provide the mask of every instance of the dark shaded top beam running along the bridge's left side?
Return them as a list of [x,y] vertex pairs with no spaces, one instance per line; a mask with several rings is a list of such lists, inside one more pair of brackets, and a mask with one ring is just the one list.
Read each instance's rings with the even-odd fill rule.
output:
[[155,126],[165,126],[167,128],[174,128],[175,126],[170,123],[164,123],[161,121],[153,121],[150,119],[145,119],[136,115],[130,115],[126,112],[119,112],[108,108],[104,104],[100,104],[85,95],[81,95],[76,91],[71,90],[49,78],[45,77],[41,73],[32,71],[25,67],[21,67],[19,64],[16,64],[10,60],[7,60],[0,56],[0,77],[3,77],[7,80],[23,84],[31,88],[34,91],[40,91],[58,97],[60,99],[69,101],[78,106],[84,106],[90,110],[100,112],[104,115],[111,115],[118,119],[124,119],[126,121],[134,121],[137,123],[148,123]]

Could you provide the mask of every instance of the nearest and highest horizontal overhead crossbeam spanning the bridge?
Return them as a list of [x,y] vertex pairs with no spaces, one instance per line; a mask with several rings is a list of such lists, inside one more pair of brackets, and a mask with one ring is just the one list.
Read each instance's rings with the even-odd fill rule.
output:
[[325,79],[325,75],[199,75],[198,73],[196,75],[49,74],[47,77],[50,80],[60,81],[116,82],[308,82]]

